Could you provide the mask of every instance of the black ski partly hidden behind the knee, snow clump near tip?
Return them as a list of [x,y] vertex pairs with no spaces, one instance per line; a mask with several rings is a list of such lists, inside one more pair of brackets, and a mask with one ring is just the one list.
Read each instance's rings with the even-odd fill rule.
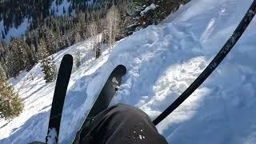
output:
[[[94,106],[91,108],[81,128],[85,127],[87,123],[90,122],[91,118],[101,113],[103,110],[107,109],[107,107],[110,105],[112,98],[114,97],[114,94],[116,94],[118,87],[121,85],[122,77],[125,74],[126,74],[126,66],[122,66],[122,65],[118,65],[112,71],[112,73],[110,74],[110,77],[106,80],[106,83],[102,88],[102,91],[98,95],[97,100],[94,102]],[[82,130],[81,133],[77,134],[77,136],[84,133],[86,133],[86,131]]]

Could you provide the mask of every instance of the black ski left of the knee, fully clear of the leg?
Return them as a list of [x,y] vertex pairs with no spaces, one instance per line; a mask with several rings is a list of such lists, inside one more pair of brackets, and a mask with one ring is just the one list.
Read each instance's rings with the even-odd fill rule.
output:
[[46,143],[58,143],[62,109],[66,97],[66,89],[70,81],[72,66],[73,58],[70,54],[66,54],[62,58],[61,66],[58,70],[58,78],[54,90],[54,99],[50,110],[50,121],[46,136]]

